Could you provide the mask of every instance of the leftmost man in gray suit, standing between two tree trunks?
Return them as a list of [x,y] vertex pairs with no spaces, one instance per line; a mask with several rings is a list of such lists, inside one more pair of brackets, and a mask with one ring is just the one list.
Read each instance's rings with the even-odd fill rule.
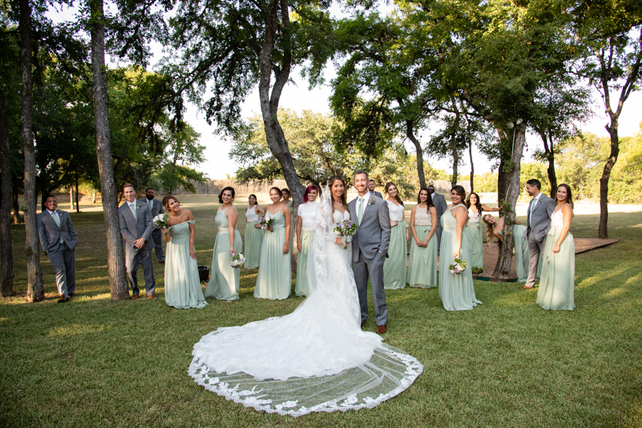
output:
[[40,245],[54,267],[56,287],[60,295],[58,303],[68,302],[76,290],[78,237],[68,213],[56,210],[56,196],[47,196],[45,206],[47,209],[36,218]]

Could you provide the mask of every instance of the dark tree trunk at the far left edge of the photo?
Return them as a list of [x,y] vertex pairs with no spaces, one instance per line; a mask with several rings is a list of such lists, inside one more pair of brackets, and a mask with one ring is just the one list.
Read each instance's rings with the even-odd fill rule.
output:
[[11,151],[6,123],[6,103],[0,88],[0,160],[2,199],[0,202],[0,292],[2,297],[14,294],[14,253],[11,246]]

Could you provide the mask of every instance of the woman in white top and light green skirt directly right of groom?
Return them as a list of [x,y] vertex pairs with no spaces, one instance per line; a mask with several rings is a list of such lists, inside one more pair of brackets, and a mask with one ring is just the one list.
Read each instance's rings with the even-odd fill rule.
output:
[[408,260],[408,223],[404,220],[404,203],[399,198],[397,186],[386,183],[386,203],[390,213],[390,244],[388,257],[384,260],[384,289],[401,290],[406,287]]

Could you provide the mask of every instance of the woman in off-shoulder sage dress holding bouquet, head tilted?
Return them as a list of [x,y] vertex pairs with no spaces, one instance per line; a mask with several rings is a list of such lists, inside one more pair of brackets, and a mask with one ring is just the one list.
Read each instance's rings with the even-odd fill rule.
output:
[[165,249],[165,303],[178,309],[205,307],[203,290],[200,288],[198,263],[194,250],[196,236],[192,212],[180,208],[173,195],[163,198],[165,211],[169,213],[168,228],[161,228]]

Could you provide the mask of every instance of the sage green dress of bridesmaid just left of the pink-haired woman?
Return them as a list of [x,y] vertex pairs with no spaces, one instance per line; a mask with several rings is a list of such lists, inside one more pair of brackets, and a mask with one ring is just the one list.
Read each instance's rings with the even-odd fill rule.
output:
[[[271,214],[270,214],[271,215]],[[283,254],[285,245],[285,216],[279,211],[272,215],[274,222],[272,230],[265,230],[263,246],[261,247],[261,262],[259,266],[254,297],[257,299],[283,300],[290,297],[292,291],[292,270],[290,255]],[[290,251],[292,248],[290,247]]]

